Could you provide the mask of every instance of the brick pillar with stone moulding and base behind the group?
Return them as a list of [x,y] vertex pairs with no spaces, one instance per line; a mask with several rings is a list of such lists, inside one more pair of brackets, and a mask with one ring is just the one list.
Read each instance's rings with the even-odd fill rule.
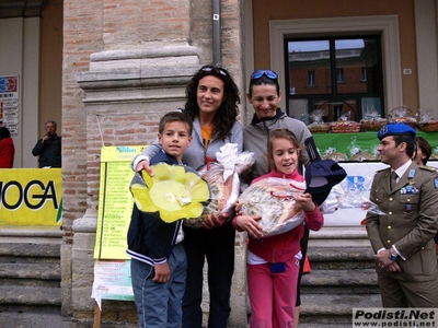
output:
[[[62,306],[90,321],[101,147],[150,143],[160,117],[183,106],[186,82],[211,62],[211,2],[65,0],[64,5],[64,222],[66,244],[72,245],[62,259],[71,263],[64,266],[62,294],[69,300]],[[241,85],[240,2],[221,7],[222,65]],[[246,320],[243,245],[238,238],[233,327]],[[136,320],[132,305],[105,302],[103,319]]]

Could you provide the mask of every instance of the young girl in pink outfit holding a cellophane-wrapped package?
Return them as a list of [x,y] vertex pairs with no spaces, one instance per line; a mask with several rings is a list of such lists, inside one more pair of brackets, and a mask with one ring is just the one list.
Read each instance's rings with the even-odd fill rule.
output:
[[[272,131],[267,151],[270,167],[274,168],[253,183],[268,177],[304,181],[297,171],[299,143],[290,130]],[[311,230],[320,230],[324,218],[312,201],[312,196],[302,194],[296,196],[295,200],[304,211],[304,224]],[[238,215],[232,221],[238,231],[246,231],[250,235],[247,244],[247,288],[252,309],[250,327],[293,327],[301,258],[300,239],[304,227],[299,225],[274,237],[264,237],[258,220],[260,216]]]

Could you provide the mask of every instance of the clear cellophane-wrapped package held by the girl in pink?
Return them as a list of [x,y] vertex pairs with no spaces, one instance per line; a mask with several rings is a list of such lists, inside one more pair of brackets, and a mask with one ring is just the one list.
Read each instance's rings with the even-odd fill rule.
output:
[[262,216],[264,236],[275,236],[296,229],[304,221],[295,196],[303,194],[306,183],[269,177],[252,184],[239,197],[242,215]]

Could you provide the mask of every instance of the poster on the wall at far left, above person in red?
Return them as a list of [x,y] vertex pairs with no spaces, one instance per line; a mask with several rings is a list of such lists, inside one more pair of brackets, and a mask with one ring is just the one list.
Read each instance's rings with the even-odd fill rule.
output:
[[19,75],[0,77],[0,127],[19,136]]

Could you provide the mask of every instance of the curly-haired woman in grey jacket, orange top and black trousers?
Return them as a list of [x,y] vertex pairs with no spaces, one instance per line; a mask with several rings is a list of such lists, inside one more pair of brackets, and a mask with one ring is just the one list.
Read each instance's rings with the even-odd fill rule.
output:
[[[209,160],[216,160],[216,152],[226,143],[237,143],[243,149],[242,126],[237,121],[240,104],[239,90],[229,72],[215,66],[204,66],[188,82],[184,110],[194,124],[193,142],[183,155],[183,162],[197,168]],[[149,159],[161,150],[153,142],[132,161],[136,172],[149,167]],[[183,298],[183,328],[203,327],[204,262],[208,261],[208,289],[210,308],[208,327],[226,328],[230,316],[231,279],[234,271],[235,230],[229,218],[211,218],[210,229],[184,226],[185,250],[187,254],[187,283]]]

